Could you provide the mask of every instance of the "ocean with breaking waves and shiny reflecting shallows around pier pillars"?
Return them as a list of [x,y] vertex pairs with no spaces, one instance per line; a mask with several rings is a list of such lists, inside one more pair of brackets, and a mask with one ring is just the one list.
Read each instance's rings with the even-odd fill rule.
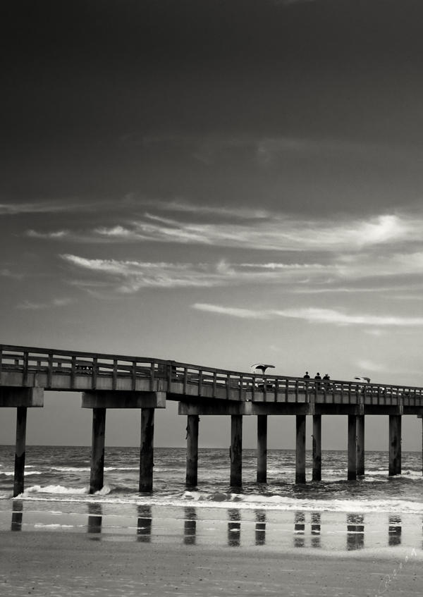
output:
[[89,532],[102,540],[320,548],[338,553],[421,553],[422,455],[403,453],[388,477],[386,452],[366,453],[347,481],[347,453],[322,453],[322,481],[295,485],[295,450],[269,450],[257,484],[255,450],[243,450],[243,488],[229,486],[228,450],[200,449],[198,486],[185,487],[185,449],[154,449],[154,492],[137,492],[138,448],[106,448],[104,488],[90,496],[90,447],[27,446],[25,492],[12,499],[14,447],[0,446],[0,530]]

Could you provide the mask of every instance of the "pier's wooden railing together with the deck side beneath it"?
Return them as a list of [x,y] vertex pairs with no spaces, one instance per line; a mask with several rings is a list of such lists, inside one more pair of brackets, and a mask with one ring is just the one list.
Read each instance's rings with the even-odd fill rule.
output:
[[[295,376],[261,375],[201,367],[166,359],[109,355],[105,353],[53,350],[0,345],[0,380],[18,374],[19,383],[52,390],[158,388],[173,394],[207,395],[235,400],[308,401],[312,397],[341,396],[341,402],[423,405],[423,388],[362,381],[314,380]],[[66,378],[66,385],[61,383]],[[107,386],[104,382],[107,381]],[[103,383],[102,383],[103,382]]]

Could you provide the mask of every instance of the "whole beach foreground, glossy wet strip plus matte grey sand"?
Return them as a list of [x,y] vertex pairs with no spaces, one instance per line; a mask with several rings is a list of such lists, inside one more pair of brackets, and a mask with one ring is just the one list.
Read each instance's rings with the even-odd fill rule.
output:
[[[352,524],[363,520],[347,513],[322,513],[320,526],[315,514],[290,512],[290,529],[260,517],[243,522],[235,510],[221,510],[216,520],[202,509],[156,509],[149,517],[144,508],[135,519],[119,520],[102,516],[98,505],[81,515],[18,502],[1,514],[4,597],[379,597],[417,596],[423,589],[423,551],[420,539],[417,548],[412,534],[407,540],[410,524],[403,535],[398,525],[380,529],[386,541],[378,547],[372,536],[379,523],[370,521],[364,531]],[[269,521],[271,512],[266,515]]]

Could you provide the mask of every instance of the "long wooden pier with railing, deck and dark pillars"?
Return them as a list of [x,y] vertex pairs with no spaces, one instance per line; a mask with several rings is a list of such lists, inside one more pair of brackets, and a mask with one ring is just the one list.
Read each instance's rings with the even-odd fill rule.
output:
[[307,417],[312,419],[312,479],[320,481],[323,416],[348,417],[348,480],[355,480],[364,474],[366,414],[389,417],[391,476],[401,472],[402,417],[423,415],[423,388],[322,382],[149,357],[0,345],[0,407],[16,408],[13,496],[23,493],[25,485],[27,409],[43,407],[44,392],[50,390],[80,392],[82,408],[92,410],[90,493],[103,486],[109,408],[141,410],[140,493],[153,491],[154,412],[166,408],[168,400],[178,402],[178,414],[187,419],[188,487],[198,484],[200,417],[231,417],[230,484],[239,488],[243,482],[243,417],[257,417],[257,482],[266,483],[267,417],[295,415],[295,483],[304,484]]

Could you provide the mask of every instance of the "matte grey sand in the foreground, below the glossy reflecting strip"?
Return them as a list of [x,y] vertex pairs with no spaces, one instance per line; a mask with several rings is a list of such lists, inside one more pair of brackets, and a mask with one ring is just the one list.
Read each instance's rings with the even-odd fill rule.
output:
[[422,560],[1,531],[0,595],[421,596]]

